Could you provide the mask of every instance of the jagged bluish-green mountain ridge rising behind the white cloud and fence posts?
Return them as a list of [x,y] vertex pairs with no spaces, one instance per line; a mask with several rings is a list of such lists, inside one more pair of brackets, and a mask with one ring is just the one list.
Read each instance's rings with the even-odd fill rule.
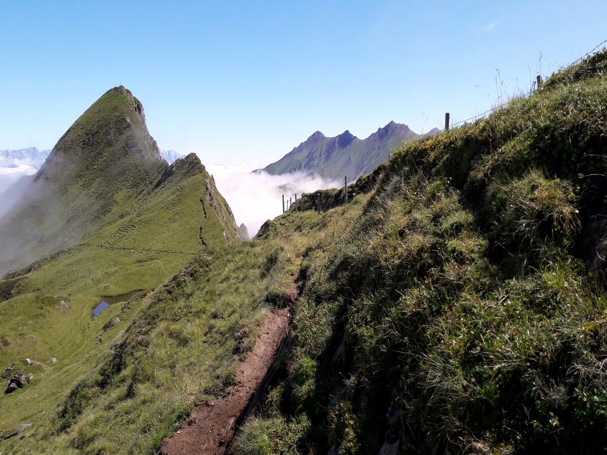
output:
[[[435,128],[424,136],[435,135],[439,131]],[[276,163],[269,164],[262,170],[273,175],[302,171],[332,179],[344,176],[357,178],[387,161],[402,141],[421,136],[407,125],[394,121],[379,128],[366,139],[359,139],[348,130],[330,138],[317,131]],[[261,169],[256,172],[259,170]]]

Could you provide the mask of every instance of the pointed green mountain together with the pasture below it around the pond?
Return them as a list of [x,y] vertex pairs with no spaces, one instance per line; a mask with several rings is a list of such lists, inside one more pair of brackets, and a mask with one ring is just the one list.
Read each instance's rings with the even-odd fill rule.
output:
[[[126,89],[110,90],[98,101],[100,106],[93,105],[95,109],[87,110],[74,125],[80,128],[79,122],[84,119],[84,130],[104,130],[106,116],[101,114],[111,111],[115,120],[121,118],[124,109],[137,110],[139,104],[128,95],[130,92],[115,95],[116,91]],[[117,97],[122,100],[118,104]],[[100,120],[97,126],[90,118],[91,112]],[[32,423],[36,432],[47,428],[45,425],[54,421],[57,406],[64,402],[76,380],[107,353],[112,340],[147,305],[144,296],[152,288],[174,277],[203,246],[226,246],[239,241],[228,204],[193,153],[171,166],[155,159],[154,153],[146,155],[148,149],[140,149],[137,144],[155,143],[141,132],[141,123],[138,132],[128,126],[124,135],[114,130],[118,138],[101,147],[103,157],[80,157],[80,149],[72,150],[70,157],[69,147],[74,144],[66,138],[73,138],[75,126],[59,141],[63,145],[53,151],[54,161],[47,163],[36,179],[44,181],[46,188],[59,189],[57,193],[65,203],[59,213],[72,214],[65,220],[53,220],[57,223],[53,226],[60,228],[57,232],[67,235],[66,231],[78,230],[84,234],[75,245],[0,280],[0,369],[13,365],[12,370],[2,372],[3,385],[19,370],[33,376],[25,388],[0,399],[0,435],[4,436],[21,423]],[[134,140],[135,136],[139,139]],[[124,148],[124,144],[134,147]],[[101,163],[97,164],[97,160]],[[84,164],[78,167],[76,162]],[[70,169],[77,179],[66,177]],[[145,174],[145,169],[154,172]],[[62,174],[63,170],[67,174]],[[113,172],[117,174],[110,178]],[[40,226],[52,229],[45,214],[27,212],[49,201],[49,194],[36,192],[40,188],[30,192],[29,199],[5,219],[0,235],[23,234],[19,238],[26,241],[32,232],[11,231],[18,225],[15,220],[34,224],[43,220],[46,224]],[[95,195],[104,200],[95,200]],[[41,243],[46,245],[44,248],[50,246]],[[32,248],[30,252],[41,254],[44,248]],[[93,308],[102,297],[134,291],[141,292],[130,302],[114,303],[92,318]],[[29,365],[25,360],[28,358],[38,365]],[[0,436],[3,453],[26,450],[15,446],[18,437],[8,442],[2,439]]]

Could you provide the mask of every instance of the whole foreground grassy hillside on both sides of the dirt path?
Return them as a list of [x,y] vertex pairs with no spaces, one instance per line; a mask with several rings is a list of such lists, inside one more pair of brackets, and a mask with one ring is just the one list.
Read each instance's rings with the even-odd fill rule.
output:
[[[250,243],[203,248],[92,322],[84,334],[106,332],[77,382],[57,379],[69,393],[3,401],[47,407],[0,450],[155,453],[195,403],[229,391],[296,276],[290,343],[236,453],[606,453],[606,70],[603,50],[400,147],[348,206],[319,215],[308,195]],[[20,298],[1,305],[18,314]],[[122,332],[116,315],[132,320]]]

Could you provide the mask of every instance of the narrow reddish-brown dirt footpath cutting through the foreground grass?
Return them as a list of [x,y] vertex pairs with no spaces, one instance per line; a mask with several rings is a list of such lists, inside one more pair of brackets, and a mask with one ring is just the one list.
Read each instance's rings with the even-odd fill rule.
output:
[[263,322],[257,342],[240,366],[234,386],[225,397],[200,403],[194,417],[186,420],[181,430],[165,439],[160,453],[223,454],[235,435],[236,421],[249,401],[254,399],[274,354],[287,336],[289,309],[277,309]]

